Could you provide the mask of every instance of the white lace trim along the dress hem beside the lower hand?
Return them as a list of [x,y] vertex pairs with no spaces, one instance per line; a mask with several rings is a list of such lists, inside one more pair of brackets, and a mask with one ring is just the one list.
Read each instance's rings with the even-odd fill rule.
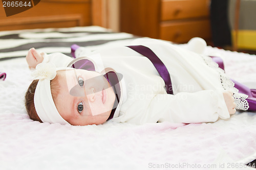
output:
[[236,109],[248,110],[249,105],[248,105],[248,102],[246,101],[246,99],[248,98],[248,95],[238,92],[238,89],[234,87],[234,83],[225,74],[224,70],[221,69],[219,65],[211,59],[211,57],[205,56],[205,55],[202,55],[202,57],[205,63],[209,67],[214,68],[216,71],[219,72],[222,87],[225,90],[230,90],[234,93],[233,97],[234,97],[234,103],[236,103]]

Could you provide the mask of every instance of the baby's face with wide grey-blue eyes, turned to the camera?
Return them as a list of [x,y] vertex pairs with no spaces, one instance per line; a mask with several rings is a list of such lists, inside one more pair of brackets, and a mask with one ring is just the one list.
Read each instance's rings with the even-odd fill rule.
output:
[[115,93],[108,80],[95,71],[58,71],[59,93],[55,105],[71,125],[99,125],[112,111]]

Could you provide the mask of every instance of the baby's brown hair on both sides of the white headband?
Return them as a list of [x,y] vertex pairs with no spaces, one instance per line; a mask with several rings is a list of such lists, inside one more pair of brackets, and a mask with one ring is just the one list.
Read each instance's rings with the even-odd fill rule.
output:
[[[59,93],[59,84],[58,84],[58,71],[56,77],[51,80],[50,86],[51,86],[51,93],[53,97],[53,101],[56,98],[57,94]],[[33,82],[30,84],[26,94],[25,94],[25,107],[27,109],[27,112],[29,114],[29,117],[32,120],[36,120],[42,123],[41,119],[36,113],[35,110],[35,104],[34,104],[34,94],[35,94],[35,89],[37,86],[38,80],[33,80]],[[55,103],[55,101],[54,101]]]

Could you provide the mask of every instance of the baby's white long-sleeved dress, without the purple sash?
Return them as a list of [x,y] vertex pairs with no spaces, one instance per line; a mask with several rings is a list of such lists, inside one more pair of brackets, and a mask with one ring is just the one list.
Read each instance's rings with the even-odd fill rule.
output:
[[[129,45],[147,46],[161,59],[170,74],[174,95],[166,93],[165,83],[152,62],[129,47],[104,48],[87,54],[78,48],[78,57],[94,59],[100,55],[101,61],[96,63],[123,75],[121,107],[111,121],[202,123],[229,118],[220,72],[207,65],[206,56],[156,39],[136,39]],[[44,59],[57,67],[67,66],[70,61],[72,58],[56,53]],[[102,68],[97,69],[100,72]]]

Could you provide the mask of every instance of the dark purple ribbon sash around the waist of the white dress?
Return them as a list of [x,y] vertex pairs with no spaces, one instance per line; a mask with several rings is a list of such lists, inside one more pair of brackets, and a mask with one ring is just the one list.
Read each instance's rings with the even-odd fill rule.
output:
[[169,72],[164,63],[157,57],[157,55],[152,50],[150,50],[150,48],[143,45],[131,45],[127,47],[133,49],[142,56],[147,57],[153,63],[159,75],[164,80],[167,94],[174,94]]

